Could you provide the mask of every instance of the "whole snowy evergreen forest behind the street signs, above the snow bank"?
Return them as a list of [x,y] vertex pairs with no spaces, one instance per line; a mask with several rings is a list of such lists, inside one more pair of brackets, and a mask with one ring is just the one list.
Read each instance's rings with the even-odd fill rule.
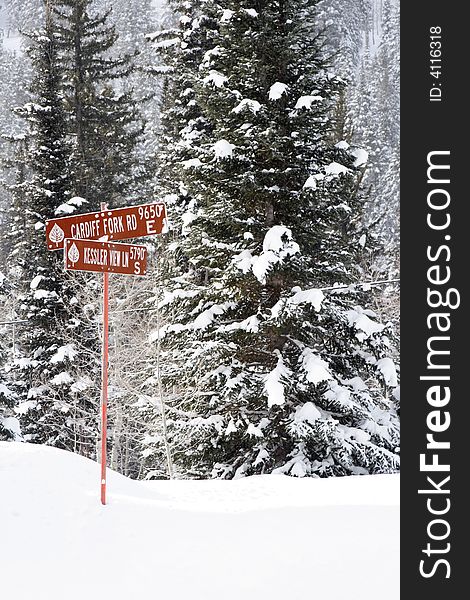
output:
[[0,440],[98,457],[101,280],[44,223],[164,200],[111,277],[109,464],[398,470],[398,2],[46,4],[0,0]]

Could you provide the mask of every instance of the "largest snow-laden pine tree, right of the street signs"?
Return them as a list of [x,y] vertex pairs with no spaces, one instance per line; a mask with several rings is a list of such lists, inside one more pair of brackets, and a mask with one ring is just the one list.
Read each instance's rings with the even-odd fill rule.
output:
[[167,43],[166,105],[178,110],[164,119],[177,151],[164,153],[161,178],[175,235],[154,335],[176,467],[223,478],[394,471],[389,331],[362,291],[320,290],[360,280],[367,236],[364,153],[327,141],[342,84],[315,33],[317,2],[208,0],[196,14],[182,4],[179,40]]

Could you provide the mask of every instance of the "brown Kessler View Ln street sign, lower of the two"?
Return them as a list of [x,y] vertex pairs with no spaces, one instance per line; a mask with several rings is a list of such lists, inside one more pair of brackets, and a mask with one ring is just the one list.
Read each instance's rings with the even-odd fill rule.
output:
[[66,239],[64,260],[68,271],[145,275],[147,248],[134,244]]

